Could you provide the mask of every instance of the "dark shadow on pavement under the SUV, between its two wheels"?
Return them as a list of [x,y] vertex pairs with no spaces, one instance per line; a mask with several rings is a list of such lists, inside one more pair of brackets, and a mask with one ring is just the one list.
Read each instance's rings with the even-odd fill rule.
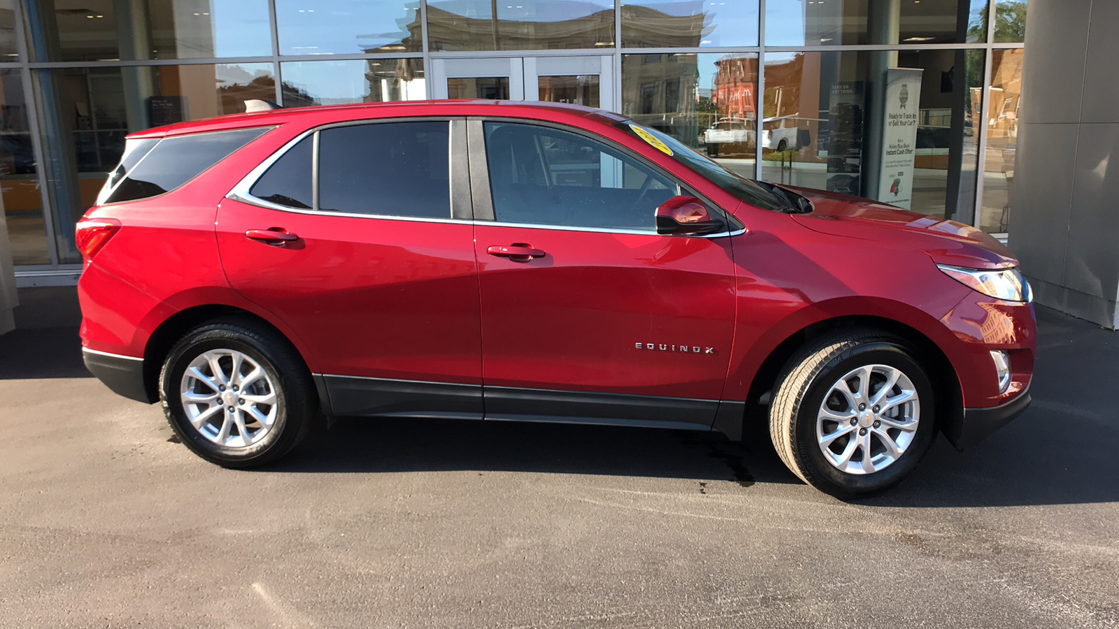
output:
[[799,482],[769,443],[681,430],[467,420],[340,419],[270,467],[291,472],[517,471]]

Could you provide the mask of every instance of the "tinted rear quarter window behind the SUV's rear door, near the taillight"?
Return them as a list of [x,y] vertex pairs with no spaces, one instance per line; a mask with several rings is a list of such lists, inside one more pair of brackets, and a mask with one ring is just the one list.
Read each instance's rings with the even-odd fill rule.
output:
[[[139,160],[134,158],[140,151],[125,149],[124,159],[105,182],[103,198],[98,198],[97,204],[132,201],[170,193],[269,129],[236,129],[163,138],[143,152]],[[130,161],[133,163],[130,165]]]

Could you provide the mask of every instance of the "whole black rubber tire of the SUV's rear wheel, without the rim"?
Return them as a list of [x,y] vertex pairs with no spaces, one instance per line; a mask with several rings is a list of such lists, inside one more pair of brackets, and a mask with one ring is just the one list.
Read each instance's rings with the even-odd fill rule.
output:
[[[255,360],[275,389],[275,417],[256,443],[231,448],[191,425],[180,397],[191,360],[213,349],[232,349]],[[308,435],[319,413],[318,393],[299,351],[272,328],[244,317],[215,319],[187,332],[171,348],[159,375],[159,398],[171,430],[192,452],[225,468],[252,468],[283,457]],[[250,431],[252,432],[252,431]]]

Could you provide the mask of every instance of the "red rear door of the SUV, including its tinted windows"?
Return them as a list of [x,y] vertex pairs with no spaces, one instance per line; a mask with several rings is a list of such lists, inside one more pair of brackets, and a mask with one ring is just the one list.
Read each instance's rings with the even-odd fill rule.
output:
[[464,147],[461,120],[323,128],[222,203],[229,282],[310,348],[336,414],[481,416]]

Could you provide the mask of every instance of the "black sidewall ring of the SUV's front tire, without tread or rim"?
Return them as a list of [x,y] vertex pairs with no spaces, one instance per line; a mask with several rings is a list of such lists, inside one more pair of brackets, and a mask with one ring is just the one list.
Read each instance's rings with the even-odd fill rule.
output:
[[[816,420],[831,385],[865,365],[887,365],[901,369],[916,389],[921,413],[913,441],[896,461],[876,472],[853,475],[840,471],[824,456],[816,435]],[[928,452],[937,430],[934,404],[932,382],[906,350],[891,342],[871,342],[853,348],[829,360],[808,386],[793,422],[798,458],[810,475],[834,487],[836,495],[859,496],[881,491],[909,476]]]

